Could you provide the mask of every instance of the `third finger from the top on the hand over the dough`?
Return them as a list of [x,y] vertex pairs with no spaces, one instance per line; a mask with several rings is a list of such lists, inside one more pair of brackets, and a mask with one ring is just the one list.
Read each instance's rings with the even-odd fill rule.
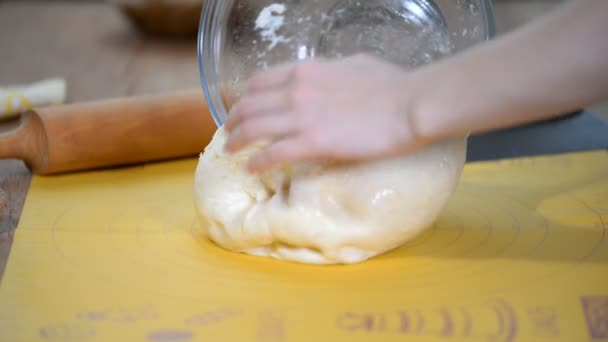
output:
[[274,114],[245,120],[228,137],[225,149],[236,152],[256,140],[285,139],[296,132],[290,115]]

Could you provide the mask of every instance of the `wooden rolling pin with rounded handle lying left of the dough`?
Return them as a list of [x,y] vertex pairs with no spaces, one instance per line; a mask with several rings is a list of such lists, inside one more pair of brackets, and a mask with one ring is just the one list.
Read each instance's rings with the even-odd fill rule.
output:
[[39,175],[159,161],[197,155],[216,129],[199,90],[52,106],[0,123],[0,159]]

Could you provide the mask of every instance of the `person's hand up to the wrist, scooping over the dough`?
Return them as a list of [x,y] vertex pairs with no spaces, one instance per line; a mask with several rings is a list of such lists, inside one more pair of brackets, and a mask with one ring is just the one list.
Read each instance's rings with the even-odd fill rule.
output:
[[226,150],[270,144],[249,161],[261,172],[284,163],[365,160],[420,147],[405,70],[369,56],[310,61],[253,76],[225,124]]

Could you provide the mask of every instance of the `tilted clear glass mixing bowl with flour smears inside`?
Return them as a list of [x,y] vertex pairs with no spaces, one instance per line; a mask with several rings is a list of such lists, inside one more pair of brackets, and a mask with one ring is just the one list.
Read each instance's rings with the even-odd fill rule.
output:
[[493,36],[491,0],[206,0],[198,59],[221,126],[259,70],[357,53],[415,68]]

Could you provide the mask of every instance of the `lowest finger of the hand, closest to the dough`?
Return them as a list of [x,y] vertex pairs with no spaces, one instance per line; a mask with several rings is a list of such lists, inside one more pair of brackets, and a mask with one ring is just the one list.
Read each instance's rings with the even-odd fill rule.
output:
[[303,140],[287,138],[271,144],[251,157],[247,167],[252,173],[261,173],[287,163],[314,160],[319,157]]

